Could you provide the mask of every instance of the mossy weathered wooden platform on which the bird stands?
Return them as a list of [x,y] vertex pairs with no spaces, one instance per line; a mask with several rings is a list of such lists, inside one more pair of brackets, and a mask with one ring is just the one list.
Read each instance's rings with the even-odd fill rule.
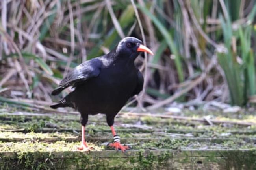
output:
[[[13,161],[17,164],[14,163],[12,165],[19,165],[24,169],[28,167],[31,169],[49,169],[52,163],[58,163],[58,166],[55,168],[59,169],[69,167],[68,164],[72,161],[73,163],[71,163],[71,165],[76,164],[76,166],[71,169],[82,168],[83,161],[87,161],[87,163],[93,162],[90,167],[88,166],[88,168],[91,169],[102,169],[102,167],[105,166],[114,169],[127,168],[122,165],[121,161],[122,159],[127,159],[127,156],[122,158],[115,157],[115,160],[105,160],[102,163],[102,159],[93,158],[92,161],[90,154],[82,154],[82,156],[79,154],[82,153],[77,151],[77,147],[80,145],[79,115],[9,115],[9,113],[15,113],[17,110],[18,109],[12,108],[12,110],[9,110],[9,108],[5,108],[0,115],[0,153],[13,152],[17,154],[15,158],[17,161],[9,158],[8,161],[6,161],[5,159],[5,166],[2,164],[0,168],[3,169],[9,164],[11,165]],[[28,110],[19,111],[28,112]],[[8,115],[4,113],[8,113]],[[217,114],[216,112],[205,113],[184,111],[181,114],[189,117],[212,115],[220,120],[228,119],[232,121],[254,122],[256,120],[256,115],[254,115],[254,113],[237,113],[237,115],[233,114],[233,116],[230,117],[229,115],[221,113]],[[133,169],[138,170],[157,169],[158,165],[163,165],[163,162],[169,163],[170,165],[176,165],[176,161],[191,163],[192,160],[190,157],[186,158],[184,155],[182,160],[178,159],[173,156],[173,154],[168,154],[169,152],[161,152],[161,156],[149,154],[147,157],[143,157],[145,150],[176,150],[177,152],[182,150],[253,150],[256,146],[256,127],[254,126],[239,126],[234,124],[210,126],[205,124],[205,122],[179,121],[155,117],[127,117],[125,115],[119,115],[115,119],[115,128],[121,137],[121,142],[124,141],[124,143],[128,144],[132,150],[138,150],[136,155],[128,156],[130,168],[132,167]],[[104,115],[89,116],[89,122],[86,126],[86,135],[87,139],[89,139],[89,145],[93,146],[95,151],[113,151],[112,148],[103,144],[104,142],[112,142],[111,130],[106,124],[106,117]],[[50,153],[58,152],[74,153],[74,158],[65,158],[64,156],[61,157],[61,162],[59,161],[60,158],[56,157],[56,155],[50,155]],[[129,153],[129,151],[127,153]],[[253,155],[252,159],[256,157],[255,152],[252,152],[251,155]],[[210,156],[212,159],[203,159],[204,161],[198,161],[198,163],[200,164],[200,162],[203,162],[204,165],[207,165],[207,163],[216,163],[219,160],[219,156],[216,156],[217,161],[213,159],[215,156],[215,152],[213,152]],[[240,153],[240,156],[243,157],[243,153]],[[109,157],[111,157],[111,155],[109,155]],[[168,157],[173,157],[172,161],[174,162],[170,162]],[[209,158],[209,156],[207,157]],[[232,155],[229,153],[225,155],[225,158],[230,158],[232,160],[239,159],[231,157]],[[247,157],[249,157],[249,155],[247,155]],[[0,157],[0,161],[3,162],[3,160],[3,157]],[[113,162],[115,163],[113,164]],[[246,162],[249,161],[247,160]],[[61,163],[61,165],[59,165],[59,163]],[[235,166],[235,163],[233,164]],[[252,164],[253,163],[250,163],[248,166],[251,166]],[[222,164],[218,167],[227,166]],[[178,168],[176,169],[178,170]],[[230,169],[232,169],[232,167]]]

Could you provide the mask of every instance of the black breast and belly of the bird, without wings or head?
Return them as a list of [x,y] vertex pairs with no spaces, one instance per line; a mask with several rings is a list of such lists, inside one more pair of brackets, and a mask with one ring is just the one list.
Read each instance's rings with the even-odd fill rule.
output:
[[81,114],[116,114],[132,97],[136,85],[134,63],[121,60],[102,68],[97,77],[76,87],[70,100]]

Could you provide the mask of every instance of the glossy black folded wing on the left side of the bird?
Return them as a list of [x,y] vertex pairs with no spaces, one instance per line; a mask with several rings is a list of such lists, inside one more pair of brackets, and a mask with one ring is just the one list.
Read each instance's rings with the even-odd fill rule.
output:
[[69,86],[76,86],[80,82],[84,82],[92,77],[97,77],[102,68],[102,61],[98,58],[88,60],[76,66],[67,76],[61,80],[58,88],[52,91],[52,95],[59,94],[62,90]]

